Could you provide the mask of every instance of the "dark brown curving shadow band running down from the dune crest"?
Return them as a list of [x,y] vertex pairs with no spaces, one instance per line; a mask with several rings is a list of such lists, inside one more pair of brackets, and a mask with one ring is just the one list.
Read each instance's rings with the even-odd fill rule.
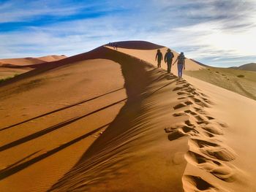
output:
[[[136,145],[136,140],[144,137],[145,132],[154,126],[150,120],[151,113],[148,112],[154,110],[154,103],[145,102],[146,99],[150,99],[157,91],[176,82],[175,76],[167,75],[165,72],[159,74],[161,69],[155,69],[151,64],[138,58],[105,47],[102,47],[100,53],[104,55],[103,58],[116,61],[121,65],[124,87],[128,96],[127,103],[104,134],[49,191],[90,191],[91,185],[104,184],[121,175],[121,168],[129,166],[132,161],[131,147]],[[97,58],[99,57],[97,55]],[[151,93],[146,91],[152,82],[162,79],[172,81]],[[144,138],[143,142],[140,141],[140,146],[146,147],[146,143],[150,141]]]

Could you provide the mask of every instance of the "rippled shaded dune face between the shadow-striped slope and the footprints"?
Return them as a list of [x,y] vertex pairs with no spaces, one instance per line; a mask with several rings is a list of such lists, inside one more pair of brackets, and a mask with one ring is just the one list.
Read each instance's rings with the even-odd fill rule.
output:
[[[152,188],[156,191],[169,191],[170,187],[173,190],[181,191],[180,178],[184,161],[178,154],[182,150],[185,151],[187,145],[178,148],[178,151],[174,150],[178,153],[176,155],[176,170],[171,170],[173,167],[171,162],[168,163],[170,164],[169,168],[165,170],[165,163],[156,164],[155,160],[155,158],[159,158],[158,155],[162,155],[164,159],[170,161],[169,157],[167,158],[165,153],[162,153],[163,149],[155,147],[159,144],[164,149],[169,147],[166,139],[162,141],[165,136],[165,133],[161,131],[163,117],[157,117],[157,114],[169,111],[170,108],[162,99],[160,102],[157,101],[162,96],[164,98],[170,96],[168,90],[175,86],[175,77],[165,74],[162,69],[155,69],[151,64],[141,61],[139,58],[105,47],[102,49],[106,51],[105,53],[111,54],[110,59],[121,64],[128,96],[127,103],[104,134],[86,151],[78,164],[49,191],[134,191],[141,185],[146,191],[152,190]],[[151,121],[152,118],[154,121]],[[170,122],[169,115],[166,113],[162,120],[164,123]],[[162,137],[157,137],[159,134]],[[175,146],[185,140],[177,141]],[[154,161],[151,158],[143,158],[143,155],[151,156]],[[180,160],[178,160],[179,158]],[[162,177],[166,179],[155,177],[154,182],[148,183],[147,181],[153,175],[151,169],[145,169],[146,166],[159,169],[157,172],[165,173],[162,174]],[[178,172],[178,176],[167,174],[167,171],[175,171],[176,173],[173,172],[173,174]]]

